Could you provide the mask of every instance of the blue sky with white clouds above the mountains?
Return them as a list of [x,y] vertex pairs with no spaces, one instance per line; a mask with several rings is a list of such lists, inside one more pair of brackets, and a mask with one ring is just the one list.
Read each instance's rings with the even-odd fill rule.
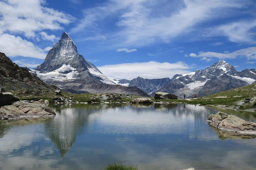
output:
[[0,51],[34,68],[66,31],[112,78],[255,68],[254,0],[0,0]]

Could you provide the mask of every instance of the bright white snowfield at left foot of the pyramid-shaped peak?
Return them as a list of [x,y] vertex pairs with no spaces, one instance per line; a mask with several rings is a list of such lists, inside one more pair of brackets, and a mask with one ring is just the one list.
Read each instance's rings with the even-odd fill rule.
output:
[[[74,80],[77,75],[79,74],[75,68],[71,67],[69,64],[63,64],[62,67],[53,70],[52,72],[48,73],[40,73],[37,70],[31,69],[32,73],[36,73],[37,77],[41,80],[58,80],[58,81],[67,81],[67,80]],[[65,73],[68,72],[68,73]]]

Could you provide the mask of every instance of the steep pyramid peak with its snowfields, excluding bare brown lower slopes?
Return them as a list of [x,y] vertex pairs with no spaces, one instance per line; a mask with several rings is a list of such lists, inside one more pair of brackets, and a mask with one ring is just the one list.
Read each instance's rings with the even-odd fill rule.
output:
[[[89,81],[115,84],[77,52],[75,43],[66,32],[62,33],[61,39],[48,52],[45,61],[35,70],[38,77],[43,80],[68,81],[80,76],[83,80],[87,77]],[[58,79],[58,76],[62,78]]]

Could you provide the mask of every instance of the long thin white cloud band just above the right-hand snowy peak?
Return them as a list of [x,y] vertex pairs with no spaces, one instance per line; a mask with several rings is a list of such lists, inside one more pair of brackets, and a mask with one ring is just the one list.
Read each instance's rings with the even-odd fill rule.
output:
[[234,59],[237,57],[246,57],[247,60],[256,60],[256,47],[249,47],[246,49],[240,49],[230,53],[218,53],[218,52],[200,52],[198,55],[195,53],[190,53],[190,57],[198,57],[201,60],[210,61],[211,58],[219,59]]

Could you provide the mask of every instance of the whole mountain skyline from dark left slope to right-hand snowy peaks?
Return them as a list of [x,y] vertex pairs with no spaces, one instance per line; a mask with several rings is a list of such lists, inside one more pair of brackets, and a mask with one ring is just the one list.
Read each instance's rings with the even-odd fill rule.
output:
[[[0,53],[0,88],[11,89],[53,89],[53,86],[75,93],[120,93],[138,96],[153,96],[155,92],[167,92],[182,98],[207,96],[216,92],[252,84],[256,81],[256,70],[245,69],[238,72],[231,64],[221,60],[203,70],[189,74],[176,74],[172,79],[116,80],[104,76],[98,68],[87,61],[77,51],[73,40],[64,32],[45,61],[35,69],[17,66]],[[7,64],[6,64],[7,63]],[[43,83],[43,80],[45,83]],[[42,90],[41,90],[42,91]]]

